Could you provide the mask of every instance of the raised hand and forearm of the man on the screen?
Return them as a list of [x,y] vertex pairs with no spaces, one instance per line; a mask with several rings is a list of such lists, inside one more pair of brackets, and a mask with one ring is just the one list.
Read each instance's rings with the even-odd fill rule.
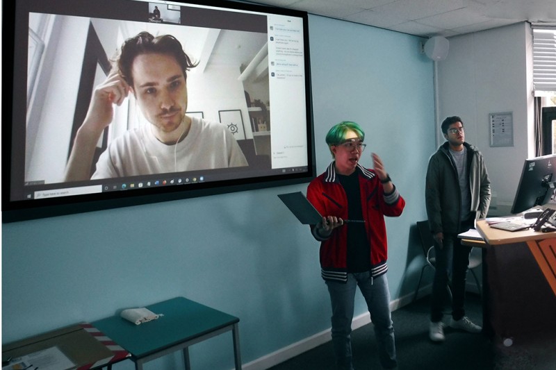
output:
[[122,105],[130,91],[124,78],[113,70],[92,93],[89,110],[76,133],[74,146],[65,169],[65,181],[88,180],[95,148],[104,128],[111,124],[114,104]]

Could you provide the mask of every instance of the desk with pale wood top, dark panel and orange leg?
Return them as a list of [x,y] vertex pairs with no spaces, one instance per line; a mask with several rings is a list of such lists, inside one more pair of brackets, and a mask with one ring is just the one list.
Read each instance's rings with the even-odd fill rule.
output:
[[511,338],[556,330],[556,233],[498,230],[484,220],[477,231],[486,242],[486,332]]

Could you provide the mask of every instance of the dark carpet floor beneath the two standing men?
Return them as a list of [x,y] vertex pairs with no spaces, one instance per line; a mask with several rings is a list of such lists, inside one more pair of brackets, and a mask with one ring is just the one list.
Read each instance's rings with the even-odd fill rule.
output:
[[[555,370],[556,333],[523,335],[513,338],[512,346],[502,344],[502,338],[445,329],[446,340],[433,343],[428,338],[430,296],[392,313],[395,329],[398,369],[400,370]],[[480,296],[468,294],[466,314],[482,325]],[[555,312],[556,314],[556,312]],[[449,315],[444,322],[448,323]],[[373,324],[352,333],[354,369],[381,369]],[[334,370],[332,343],[327,342],[283,362],[272,370]]]

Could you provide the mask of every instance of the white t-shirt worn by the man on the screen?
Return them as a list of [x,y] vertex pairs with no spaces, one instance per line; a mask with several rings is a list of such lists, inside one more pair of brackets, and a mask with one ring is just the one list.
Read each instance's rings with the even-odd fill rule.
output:
[[176,145],[159,142],[152,125],[117,137],[97,162],[92,178],[114,178],[168,172],[247,166],[226,125],[191,117],[188,135]]

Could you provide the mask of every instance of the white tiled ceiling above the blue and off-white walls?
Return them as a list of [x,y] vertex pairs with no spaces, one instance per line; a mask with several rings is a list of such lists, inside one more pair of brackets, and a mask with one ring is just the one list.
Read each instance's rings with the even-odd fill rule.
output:
[[254,0],[422,37],[528,21],[556,24],[556,0]]

